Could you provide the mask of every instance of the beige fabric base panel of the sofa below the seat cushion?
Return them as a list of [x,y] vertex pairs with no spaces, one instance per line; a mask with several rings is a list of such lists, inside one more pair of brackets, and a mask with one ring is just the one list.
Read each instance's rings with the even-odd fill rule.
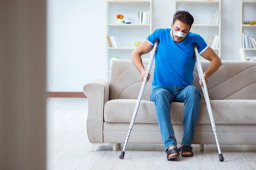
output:
[[[103,123],[103,142],[124,143],[130,123]],[[174,124],[175,137],[180,144],[183,125]],[[256,125],[216,125],[220,144],[256,144]],[[134,123],[129,137],[132,144],[163,144],[158,124]],[[216,144],[212,125],[198,124],[192,144]]]

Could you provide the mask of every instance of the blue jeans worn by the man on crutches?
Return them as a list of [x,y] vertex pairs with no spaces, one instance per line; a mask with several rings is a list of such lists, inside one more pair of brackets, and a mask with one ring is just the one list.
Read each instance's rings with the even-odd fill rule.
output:
[[193,85],[186,87],[178,85],[160,86],[151,91],[150,101],[154,102],[156,108],[157,122],[165,150],[170,146],[177,147],[171,123],[170,104],[171,102],[184,103],[184,132],[181,144],[191,146],[200,111],[201,94],[198,88]]

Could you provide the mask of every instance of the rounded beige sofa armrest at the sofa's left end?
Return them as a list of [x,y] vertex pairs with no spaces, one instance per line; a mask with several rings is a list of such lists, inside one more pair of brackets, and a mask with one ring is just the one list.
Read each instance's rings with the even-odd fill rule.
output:
[[87,134],[90,143],[102,143],[102,126],[104,105],[109,100],[109,82],[105,79],[95,79],[84,85],[89,109],[87,115]]

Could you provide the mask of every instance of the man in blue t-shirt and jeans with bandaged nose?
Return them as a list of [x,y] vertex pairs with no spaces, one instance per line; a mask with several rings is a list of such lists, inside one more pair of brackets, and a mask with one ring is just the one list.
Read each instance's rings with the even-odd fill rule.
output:
[[[210,77],[221,66],[221,59],[215,54],[204,39],[190,32],[194,18],[187,11],[177,11],[174,14],[171,28],[159,28],[151,33],[131,54],[134,66],[141,73],[141,80],[145,77],[145,68],[141,56],[153,49],[154,40],[159,39],[158,50],[155,55],[154,79],[150,101],[154,102],[157,122],[167,160],[180,156],[193,156],[192,140],[195,125],[198,121],[201,94],[192,85],[195,57],[193,57],[193,43],[198,44],[198,53],[210,61],[210,65],[203,77],[207,83]],[[150,74],[148,74],[148,79]],[[148,81],[148,79],[146,81]],[[199,81],[203,85],[202,80]],[[183,113],[184,133],[181,147],[177,148],[175,133],[171,124],[170,103],[184,102]]]

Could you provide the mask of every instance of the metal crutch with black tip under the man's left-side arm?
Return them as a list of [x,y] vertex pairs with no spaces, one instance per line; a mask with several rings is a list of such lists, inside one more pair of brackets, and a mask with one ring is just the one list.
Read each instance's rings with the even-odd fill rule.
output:
[[126,137],[126,140],[125,140],[125,145],[124,145],[123,150],[122,150],[122,152],[120,153],[120,156],[119,156],[120,159],[124,159],[124,157],[125,157],[125,148],[126,148],[128,139],[130,137],[131,130],[132,130],[132,127],[134,125],[134,121],[135,121],[137,112],[138,112],[139,107],[140,107],[140,102],[141,102],[143,93],[145,91],[145,87],[146,87],[146,83],[147,83],[146,79],[148,77],[148,73],[150,73],[150,71],[151,71],[151,67],[152,67],[152,64],[153,64],[153,61],[154,61],[154,56],[155,56],[155,53],[157,52],[158,42],[159,42],[159,39],[156,38],[156,40],[154,41],[154,47],[152,49],[153,52],[151,53],[151,57],[150,57],[149,62],[148,62],[148,67],[147,67],[147,70],[146,70],[146,73],[145,73],[145,77],[143,79],[143,83],[142,83],[142,86],[140,88],[140,94],[139,94],[139,97],[137,99],[137,103],[136,103],[136,106],[135,106],[135,109],[134,109],[134,114],[133,114],[132,119],[131,119],[131,124],[130,124],[128,134],[127,134],[127,137]]

